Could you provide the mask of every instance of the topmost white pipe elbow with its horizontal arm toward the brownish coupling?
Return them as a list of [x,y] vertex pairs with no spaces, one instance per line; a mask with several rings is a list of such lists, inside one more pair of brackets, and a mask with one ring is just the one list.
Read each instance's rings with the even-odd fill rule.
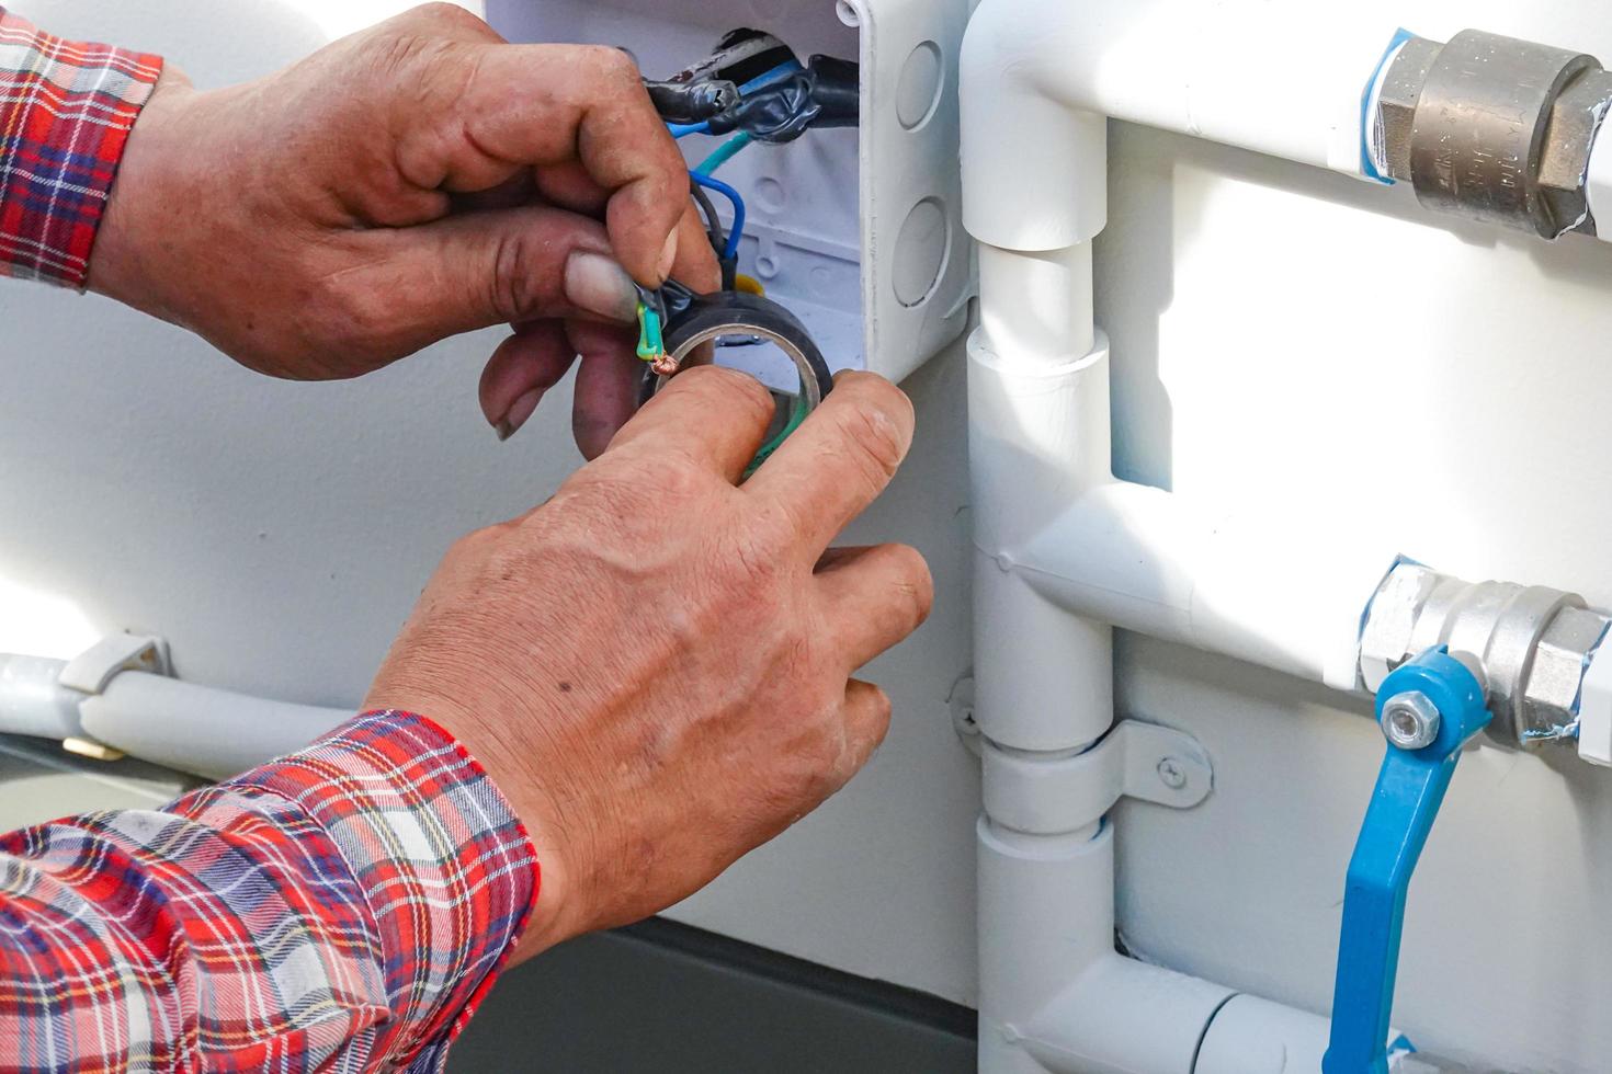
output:
[[1396,31],[1373,3],[987,0],[962,47],[964,225],[1012,250],[1103,230],[1104,116],[1359,176]]

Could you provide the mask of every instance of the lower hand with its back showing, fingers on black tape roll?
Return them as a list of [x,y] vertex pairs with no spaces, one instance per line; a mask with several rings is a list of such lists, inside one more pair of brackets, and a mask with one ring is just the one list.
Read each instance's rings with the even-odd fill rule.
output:
[[929,568],[824,549],[912,407],[843,374],[737,485],[771,411],[745,374],[680,374],[553,499],[448,552],[364,700],[440,721],[514,803],[543,871],[522,955],[683,898],[883,739],[890,700],[851,675],[929,613]]

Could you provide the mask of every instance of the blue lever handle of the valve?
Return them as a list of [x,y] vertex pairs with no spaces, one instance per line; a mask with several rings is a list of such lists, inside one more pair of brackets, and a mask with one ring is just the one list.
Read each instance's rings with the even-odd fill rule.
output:
[[1377,691],[1377,717],[1398,694],[1420,691],[1438,708],[1422,749],[1388,746],[1372,803],[1349,858],[1323,1074],[1388,1074],[1388,1021],[1399,971],[1406,894],[1422,847],[1456,775],[1460,747],[1489,723],[1483,684],[1446,649],[1402,663]]

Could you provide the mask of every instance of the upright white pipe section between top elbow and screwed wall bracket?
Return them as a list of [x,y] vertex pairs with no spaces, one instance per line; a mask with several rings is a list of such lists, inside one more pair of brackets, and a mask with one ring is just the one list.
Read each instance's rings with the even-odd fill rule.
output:
[[1012,568],[1064,506],[1109,480],[1091,246],[982,248],[980,299],[969,340],[975,717],[995,742],[1067,750],[1114,720],[1111,630],[1054,607]]

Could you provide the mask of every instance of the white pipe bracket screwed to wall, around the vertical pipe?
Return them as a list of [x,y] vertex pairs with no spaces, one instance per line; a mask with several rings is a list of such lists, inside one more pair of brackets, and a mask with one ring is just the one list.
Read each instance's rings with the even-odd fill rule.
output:
[[1138,720],[1117,723],[1096,746],[1069,757],[987,741],[982,760],[987,815],[1027,834],[1078,831],[1120,799],[1191,808],[1214,787],[1214,766],[1198,739]]

